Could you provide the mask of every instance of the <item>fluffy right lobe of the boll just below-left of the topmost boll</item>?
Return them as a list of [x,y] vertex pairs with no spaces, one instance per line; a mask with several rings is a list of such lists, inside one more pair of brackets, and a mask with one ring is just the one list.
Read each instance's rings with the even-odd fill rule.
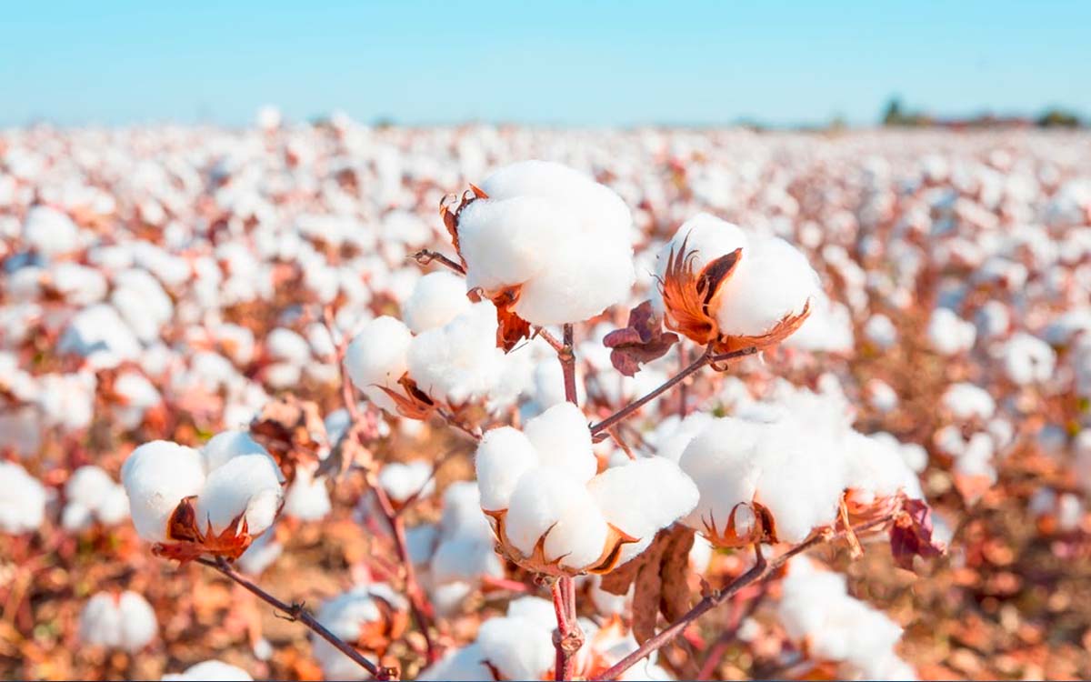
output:
[[504,351],[496,347],[496,309],[490,301],[409,344],[409,374],[424,393],[453,405],[485,397],[500,382]]

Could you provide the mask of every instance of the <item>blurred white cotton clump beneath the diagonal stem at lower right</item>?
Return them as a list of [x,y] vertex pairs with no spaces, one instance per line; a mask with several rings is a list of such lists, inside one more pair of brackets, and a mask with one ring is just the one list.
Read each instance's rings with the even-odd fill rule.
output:
[[812,660],[838,663],[838,674],[846,679],[916,679],[895,651],[901,627],[851,597],[843,575],[820,570],[805,558],[793,559],[777,613],[789,637]]

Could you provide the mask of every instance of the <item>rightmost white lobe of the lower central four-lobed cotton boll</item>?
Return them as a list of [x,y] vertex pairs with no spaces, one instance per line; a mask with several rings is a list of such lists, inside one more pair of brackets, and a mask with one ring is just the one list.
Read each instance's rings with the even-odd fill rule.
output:
[[663,457],[607,469],[587,488],[608,523],[642,540],[622,548],[622,563],[644,551],[660,528],[688,514],[699,498],[693,480]]

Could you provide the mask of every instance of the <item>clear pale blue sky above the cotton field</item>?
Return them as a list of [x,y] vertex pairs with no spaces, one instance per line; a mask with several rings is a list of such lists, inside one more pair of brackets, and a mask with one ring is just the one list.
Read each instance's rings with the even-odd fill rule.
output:
[[[300,3],[302,5],[303,3]],[[1091,115],[1091,2],[11,2],[0,124]],[[223,5],[223,7],[220,7]]]

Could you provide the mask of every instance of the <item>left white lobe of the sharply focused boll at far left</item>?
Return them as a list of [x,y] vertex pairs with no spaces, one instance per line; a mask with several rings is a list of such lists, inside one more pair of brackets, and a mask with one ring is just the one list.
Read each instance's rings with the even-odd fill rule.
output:
[[169,441],[145,443],[125,459],[121,481],[136,533],[149,542],[166,542],[175,507],[204,486],[201,453]]

